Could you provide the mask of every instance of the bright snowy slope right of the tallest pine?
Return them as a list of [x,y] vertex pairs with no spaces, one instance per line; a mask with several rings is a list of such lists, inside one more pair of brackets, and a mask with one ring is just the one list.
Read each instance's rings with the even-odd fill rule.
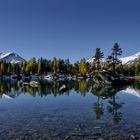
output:
[[122,64],[132,64],[135,60],[138,59],[140,59],[140,52],[128,57],[121,58],[120,60],[122,61]]

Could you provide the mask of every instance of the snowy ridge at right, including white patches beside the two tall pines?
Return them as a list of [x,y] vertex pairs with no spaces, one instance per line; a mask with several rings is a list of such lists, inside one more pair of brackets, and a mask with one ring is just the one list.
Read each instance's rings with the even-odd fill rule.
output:
[[[140,52],[119,59],[122,61],[122,64],[133,64],[135,61],[140,60]],[[87,59],[87,62],[89,63],[93,63],[93,61],[94,61],[94,57]],[[103,58],[102,61],[105,62],[106,61],[105,58]]]

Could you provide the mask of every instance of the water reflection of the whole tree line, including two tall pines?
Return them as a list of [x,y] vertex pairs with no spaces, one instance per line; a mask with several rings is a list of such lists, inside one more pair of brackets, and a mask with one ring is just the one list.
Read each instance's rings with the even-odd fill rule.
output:
[[[67,90],[59,91],[62,85],[66,85]],[[80,94],[81,96],[86,96],[89,92],[92,93],[94,96],[97,97],[97,101],[93,103],[93,110],[96,115],[96,119],[101,119],[104,115],[105,107],[104,101],[108,101],[108,105],[106,110],[109,114],[112,115],[112,120],[115,124],[118,124],[123,115],[121,112],[121,108],[123,107],[122,102],[119,102],[116,99],[116,95],[119,91],[124,90],[126,87],[103,87],[103,88],[95,88],[94,83],[92,81],[39,81],[39,86],[37,88],[33,88],[29,85],[25,87],[18,87],[16,81],[0,81],[0,97],[3,94],[6,94],[12,98],[20,94],[30,94],[33,97],[36,96],[47,96],[52,94],[54,97],[61,96],[63,94],[69,96],[72,90],[76,93]],[[131,85],[131,88],[135,90],[140,90],[140,82],[136,82],[135,84]]]

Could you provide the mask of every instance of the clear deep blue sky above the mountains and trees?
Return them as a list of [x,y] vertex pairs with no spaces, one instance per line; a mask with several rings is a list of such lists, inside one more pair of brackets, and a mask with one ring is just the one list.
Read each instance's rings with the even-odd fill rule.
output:
[[140,0],[0,0],[0,52],[69,58],[140,51]]

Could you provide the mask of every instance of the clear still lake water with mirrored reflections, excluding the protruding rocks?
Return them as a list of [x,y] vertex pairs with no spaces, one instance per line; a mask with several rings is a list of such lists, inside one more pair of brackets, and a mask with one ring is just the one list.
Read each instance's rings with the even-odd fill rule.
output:
[[140,139],[139,82],[94,89],[86,80],[37,88],[1,81],[0,96],[2,140]]

